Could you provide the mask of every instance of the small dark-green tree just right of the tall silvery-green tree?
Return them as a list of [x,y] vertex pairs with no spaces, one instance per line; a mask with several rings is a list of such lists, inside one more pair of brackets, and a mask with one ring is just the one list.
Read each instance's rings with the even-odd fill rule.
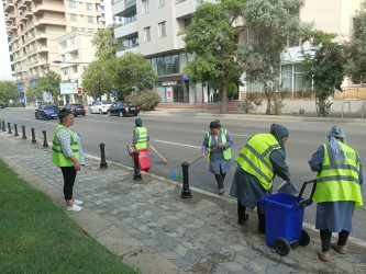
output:
[[341,90],[346,62],[343,46],[332,39],[336,34],[313,31],[311,48],[303,54],[304,80],[313,83],[313,93],[319,99],[318,115],[326,116],[331,104],[325,100]]

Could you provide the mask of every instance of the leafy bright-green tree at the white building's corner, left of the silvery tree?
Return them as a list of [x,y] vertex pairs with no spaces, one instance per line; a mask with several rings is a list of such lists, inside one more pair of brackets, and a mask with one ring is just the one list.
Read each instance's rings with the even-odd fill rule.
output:
[[186,50],[195,54],[184,73],[192,82],[214,80],[222,91],[221,112],[228,112],[228,83],[240,82],[241,69],[234,53],[237,49],[236,30],[246,0],[222,0],[197,8],[186,28]]

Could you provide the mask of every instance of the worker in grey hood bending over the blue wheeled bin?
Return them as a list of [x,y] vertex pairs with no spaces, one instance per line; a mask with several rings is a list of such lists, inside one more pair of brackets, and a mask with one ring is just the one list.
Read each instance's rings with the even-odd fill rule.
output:
[[276,174],[291,182],[291,174],[285,162],[288,136],[285,126],[273,124],[269,134],[252,136],[236,157],[237,168],[230,195],[237,198],[239,225],[249,218],[245,213],[246,208],[254,209],[257,206],[258,232],[265,233],[265,210],[259,198],[271,194]]

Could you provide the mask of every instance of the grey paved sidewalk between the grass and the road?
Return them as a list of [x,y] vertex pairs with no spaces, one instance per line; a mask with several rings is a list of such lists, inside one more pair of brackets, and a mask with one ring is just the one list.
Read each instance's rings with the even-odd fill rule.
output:
[[[34,187],[65,207],[60,170],[51,164],[51,148],[0,132],[0,158]],[[348,254],[331,251],[321,262],[318,231],[311,242],[281,258],[256,232],[257,216],[249,210],[245,226],[236,224],[236,202],[191,189],[181,199],[181,186],[144,173],[133,181],[133,169],[87,156],[77,175],[75,196],[85,205],[67,214],[91,237],[143,273],[366,273],[366,247],[348,243]],[[154,167],[151,170],[154,172]]]

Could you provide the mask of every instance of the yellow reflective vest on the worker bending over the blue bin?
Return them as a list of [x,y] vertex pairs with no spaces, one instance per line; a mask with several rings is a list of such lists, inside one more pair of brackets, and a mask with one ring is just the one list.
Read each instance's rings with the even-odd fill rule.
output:
[[280,148],[274,135],[257,134],[248,140],[235,161],[247,173],[255,175],[265,190],[270,190],[275,173],[269,155]]

